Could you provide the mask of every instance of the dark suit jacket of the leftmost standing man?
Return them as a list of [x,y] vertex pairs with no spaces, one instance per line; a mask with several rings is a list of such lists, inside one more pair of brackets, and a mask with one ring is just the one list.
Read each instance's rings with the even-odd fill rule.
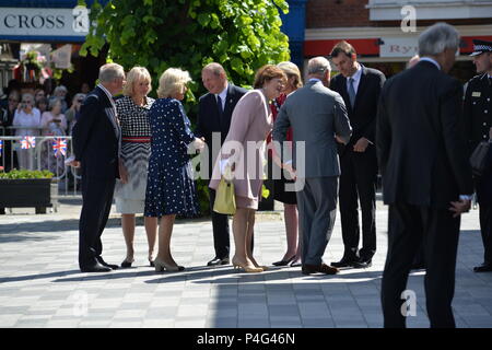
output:
[[73,151],[82,174],[96,178],[119,178],[118,161],[121,129],[116,109],[98,86],[85,98],[73,127]]

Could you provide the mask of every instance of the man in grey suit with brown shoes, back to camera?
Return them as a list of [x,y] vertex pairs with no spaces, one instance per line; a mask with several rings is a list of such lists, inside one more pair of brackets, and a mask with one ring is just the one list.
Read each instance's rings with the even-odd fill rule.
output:
[[[276,150],[285,141],[289,127],[293,130],[293,162],[282,167],[303,183],[297,190],[300,231],[303,237],[303,273],[335,275],[339,270],[323,262],[333,229],[340,163],[337,142],[347,144],[352,127],[343,98],[329,90],[330,63],[315,57],[307,65],[308,83],[289,95],[273,126]],[[280,144],[279,144],[280,142]],[[304,147],[304,153],[298,152]],[[297,154],[301,153],[301,154]],[[282,155],[282,159],[286,159]],[[291,165],[292,163],[292,165]]]

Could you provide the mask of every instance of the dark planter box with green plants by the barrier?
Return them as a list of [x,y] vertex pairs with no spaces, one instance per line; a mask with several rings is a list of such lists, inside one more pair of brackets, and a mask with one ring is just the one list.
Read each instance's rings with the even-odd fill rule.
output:
[[0,170],[0,209],[34,207],[36,213],[46,213],[56,198],[51,196],[52,176],[48,171]]

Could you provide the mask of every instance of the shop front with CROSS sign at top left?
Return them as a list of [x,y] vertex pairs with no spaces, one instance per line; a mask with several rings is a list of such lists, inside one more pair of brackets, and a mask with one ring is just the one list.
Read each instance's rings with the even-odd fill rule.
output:
[[[70,94],[90,86],[104,57],[81,57],[89,33],[89,8],[78,0],[0,0],[0,89],[15,80],[21,89],[56,84]],[[107,1],[101,1],[104,4]],[[1,90],[0,90],[1,91]]]

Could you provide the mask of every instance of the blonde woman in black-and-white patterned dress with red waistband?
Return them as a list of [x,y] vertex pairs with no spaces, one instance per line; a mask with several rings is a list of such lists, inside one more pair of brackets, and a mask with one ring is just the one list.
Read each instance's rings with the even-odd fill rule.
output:
[[[116,110],[121,126],[121,166],[127,173],[126,183],[116,182],[116,211],[121,213],[121,228],[127,245],[127,256],[122,268],[134,261],[134,214],[142,213],[145,206],[147,175],[149,167],[150,124],[149,110],[154,100],[148,94],[152,89],[149,71],[133,67],[127,74],[124,97],[116,102]],[[154,247],[157,235],[157,218],[144,218],[147,241],[149,243],[149,264],[154,266]]]

